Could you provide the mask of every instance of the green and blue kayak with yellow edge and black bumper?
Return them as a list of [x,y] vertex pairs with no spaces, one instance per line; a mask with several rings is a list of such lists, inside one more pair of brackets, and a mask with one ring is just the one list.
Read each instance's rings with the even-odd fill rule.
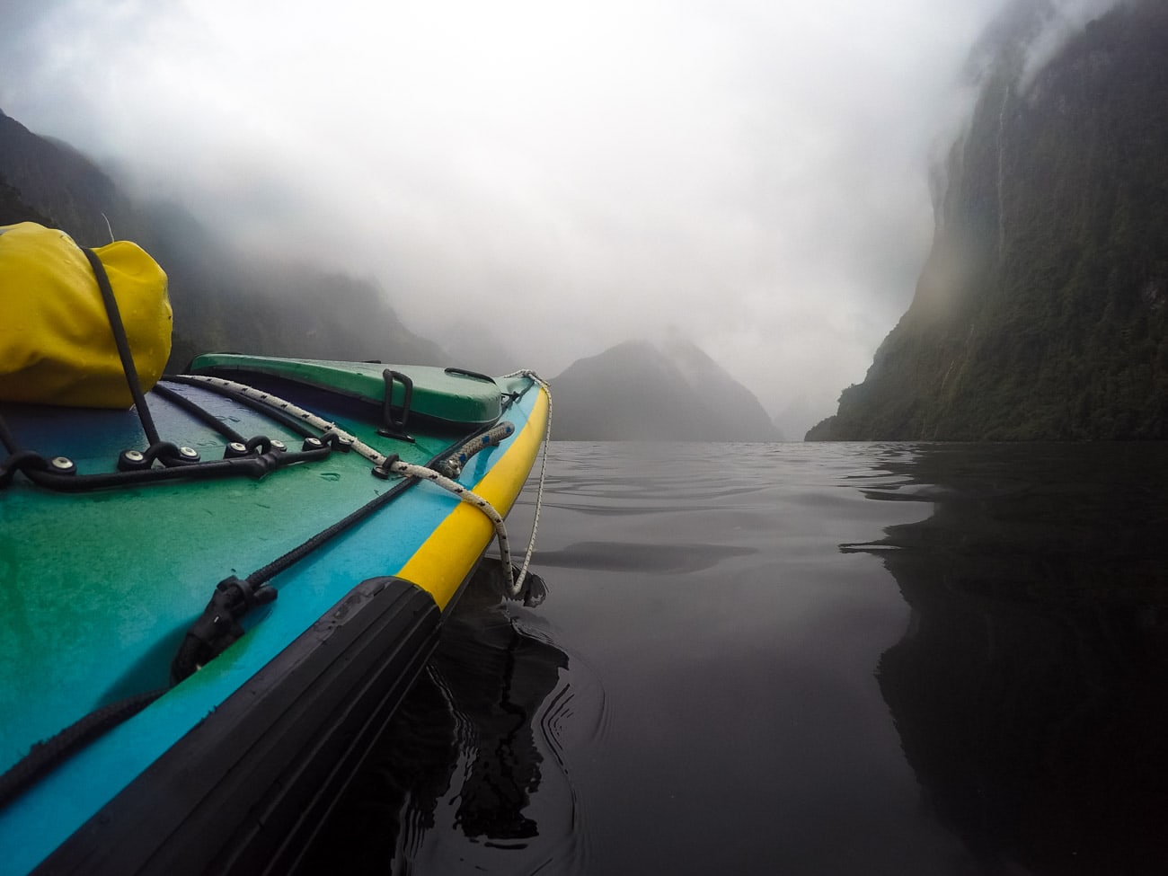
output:
[[128,410],[0,403],[0,872],[294,870],[496,540],[521,596],[549,409],[531,373],[239,354]]

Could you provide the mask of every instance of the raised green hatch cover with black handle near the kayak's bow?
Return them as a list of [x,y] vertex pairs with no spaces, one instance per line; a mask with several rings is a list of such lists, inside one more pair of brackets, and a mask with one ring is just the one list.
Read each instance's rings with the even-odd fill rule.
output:
[[[431,366],[396,366],[380,362],[329,362],[313,359],[277,359],[236,353],[207,353],[190,363],[195,374],[211,371],[248,382],[248,375],[269,375],[318,387],[377,404],[385,399],[385,370],[404,374],[413,382],[410,412],[465,425],[494,423],[501,413],[501,390],[484,375]],[[391,405],[401,405],[404,387],[394,382]]]

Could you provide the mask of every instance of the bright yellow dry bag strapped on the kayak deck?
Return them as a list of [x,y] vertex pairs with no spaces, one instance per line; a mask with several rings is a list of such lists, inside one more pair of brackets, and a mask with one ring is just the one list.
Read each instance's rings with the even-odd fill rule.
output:
[[[145,392],[171,356],[166,273],[128,241],[93,250],[105,267]],[[0,225],[0,399],[133,404],[93,267],[64,231]]]

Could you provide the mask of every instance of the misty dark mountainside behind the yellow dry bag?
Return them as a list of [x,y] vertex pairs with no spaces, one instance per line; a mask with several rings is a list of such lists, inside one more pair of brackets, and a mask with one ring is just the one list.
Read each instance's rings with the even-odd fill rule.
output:
[[72,147],[0,112],[0,224],[23,221],[60,228],[83,246],[109,243],[112,229],[162,265],[174,307],[172,371],[209,349],[422,364],[443,357],[370,283],[257,260],[178,204],[131,199]]

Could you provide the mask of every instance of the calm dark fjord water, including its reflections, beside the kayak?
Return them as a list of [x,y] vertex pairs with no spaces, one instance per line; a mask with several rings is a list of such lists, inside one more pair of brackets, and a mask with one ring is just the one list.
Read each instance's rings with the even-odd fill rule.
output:
[[547,600],[467,593],[314,868],[1168,872],[1168,446],[549,470]]

